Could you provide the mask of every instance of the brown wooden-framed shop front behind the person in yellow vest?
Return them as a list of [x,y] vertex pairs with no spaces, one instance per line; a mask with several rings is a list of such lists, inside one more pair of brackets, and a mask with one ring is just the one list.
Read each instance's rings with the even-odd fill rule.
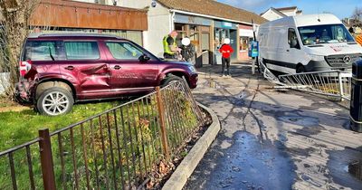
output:
[[200,59],[204,63],[211,63],[213,21],[193,15],[176,14],[174,23],[178,33],[177,45],[181,46],[182,38],[190,38],[191,43],[195,45],[196,59]]

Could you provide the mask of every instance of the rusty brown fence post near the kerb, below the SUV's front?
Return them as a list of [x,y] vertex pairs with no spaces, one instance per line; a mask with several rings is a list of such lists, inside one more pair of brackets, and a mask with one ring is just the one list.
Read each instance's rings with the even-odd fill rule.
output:
[[157,96],[157,108],[158,108],[158,117],[159,117],[159,126],[161,127],[161,140],[162,140],[162,148],[164,153],[168,159],[169,157],[169,149],[167,142],[167,130],[166,130],[166,122],[165,122],[165,109],[163,105],[163,100],[161,96],[161,91],[159,87],[156,87],[156,96]]

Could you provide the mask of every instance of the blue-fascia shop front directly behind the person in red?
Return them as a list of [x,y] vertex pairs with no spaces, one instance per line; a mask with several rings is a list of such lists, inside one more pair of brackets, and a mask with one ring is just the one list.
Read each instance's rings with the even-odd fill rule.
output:
[[[234,52],[239,52],[239,40],[238,40],[238,26],[237,24],[214,21],[214,63],[221,64],[220,47],[224,43],[224,39],[230,39],[230,45],[233,47]],[[232,61],[238,60],[238,53],[233,53],[231,57]]]

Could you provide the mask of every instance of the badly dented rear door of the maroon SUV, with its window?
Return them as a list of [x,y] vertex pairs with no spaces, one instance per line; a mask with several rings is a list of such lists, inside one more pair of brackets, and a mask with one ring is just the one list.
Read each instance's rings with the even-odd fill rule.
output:
[[[100,99],[110,91],[110,68],[97,41],[64,41],[66,62],[61,73],[76,84],[81,99]],[[104,95],[104,96],[103,96]]]

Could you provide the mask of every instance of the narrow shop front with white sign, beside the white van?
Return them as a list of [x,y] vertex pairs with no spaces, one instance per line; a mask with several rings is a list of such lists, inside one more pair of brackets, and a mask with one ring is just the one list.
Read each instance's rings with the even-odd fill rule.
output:
[[240,36],[240,51],[239,51],[239,60],[247,61],[249,60],[248,56],[248,46],[253,39],[253,32],[251,25],[239,25],[239,36]]

